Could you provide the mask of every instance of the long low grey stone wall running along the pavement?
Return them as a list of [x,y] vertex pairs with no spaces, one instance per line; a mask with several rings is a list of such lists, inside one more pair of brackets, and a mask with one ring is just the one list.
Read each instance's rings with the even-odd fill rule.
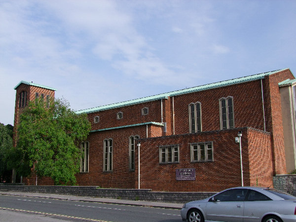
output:
[[207,198],[216,192],[159,192],[150,189],[105,189],[98,186],[33,186],[0,184],[0,191],[53,193],[62,195],[103,197],[126,200],[145,200],[186,203]]

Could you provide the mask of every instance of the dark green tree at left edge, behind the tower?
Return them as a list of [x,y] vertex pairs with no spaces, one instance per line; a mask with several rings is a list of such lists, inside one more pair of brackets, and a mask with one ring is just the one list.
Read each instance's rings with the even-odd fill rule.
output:
[[11,172],[7,168],[7,158],[12,148],[11,125],[0,123],[0,182],[9,182]]

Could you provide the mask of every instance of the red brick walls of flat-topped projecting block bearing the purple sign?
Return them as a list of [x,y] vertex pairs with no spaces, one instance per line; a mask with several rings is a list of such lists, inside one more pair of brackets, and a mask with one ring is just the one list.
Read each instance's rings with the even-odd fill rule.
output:
[[[241,168],[239,144],[235,143],[238,130],[212,131],[196,134],[176,135],[169,137],[148,138],[141,141],[140,188],[158,191],[220,191],[222,189],[241,185]],[[248,132],[247,132],[248,131]],[[251,133],[249,133],[251,131]],[[248,150],[248,140],[259,139],[259,146]],[[242,158],[244,169],[244,185],[254,185],[254,169],[249,170],[250,159],[255,156],[258,161],[270,164],[269,152],[259,152],[264,147],[270,150],[269,135],[260,131],[243,128]],[[214,161],[190,162],[190,143],[213,142]],[[160,164],[159,146],[179,144],[179,163]],[[260,153],[258,155],[257,153]],[[136,155],[136,162],[138,161]],[[196,181],[176,181],[176,169],[195,168]],[[256,166],[255,166],[256,168]],[[135,175],[138,175],[136,168]],[[270,171],[261,171],[261,185],[270,185]],[[251,178],[251,180],[250,180]],[[270,180],[269,180],[270,178]],[[138,178],[135,178],[136,187]]]

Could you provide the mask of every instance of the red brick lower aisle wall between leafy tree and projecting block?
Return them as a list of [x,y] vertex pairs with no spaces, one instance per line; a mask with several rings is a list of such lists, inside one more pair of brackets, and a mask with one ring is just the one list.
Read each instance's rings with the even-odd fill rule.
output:
[[[98,185],[105,188],[134,188],[134,171],[129,171],[129,137],[146,138],[146,125],[90,133],[89,173],[76,175],[78,185]],[[103,172],[103,141],[113,139],[113,170]],[[136,146],[137,150],[138,147]]]

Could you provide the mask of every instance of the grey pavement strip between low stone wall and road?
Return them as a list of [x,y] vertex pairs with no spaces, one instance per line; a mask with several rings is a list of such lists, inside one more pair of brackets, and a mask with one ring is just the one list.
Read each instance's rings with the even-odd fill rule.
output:
[[59,200],[68,200],[68,201],[94,202],[94,203],[116,204],[116,205],[130,205],[130,206],[139,206],[139,207],[154,207],[154,208],[175,209],[175,210],[181,210],[183,207],[183,204],[180,204],[180,203],[153,202],[153,201],[141,201],[141,200],[140,201],[120,200],[120,199],[112,199],[112,198],[72,196],[72,195],[60,195],[60,194],[50,194],[50,193],[0,191],[0,195],[37,197],[37,198],[46,198],[46,199],[59,199]]

